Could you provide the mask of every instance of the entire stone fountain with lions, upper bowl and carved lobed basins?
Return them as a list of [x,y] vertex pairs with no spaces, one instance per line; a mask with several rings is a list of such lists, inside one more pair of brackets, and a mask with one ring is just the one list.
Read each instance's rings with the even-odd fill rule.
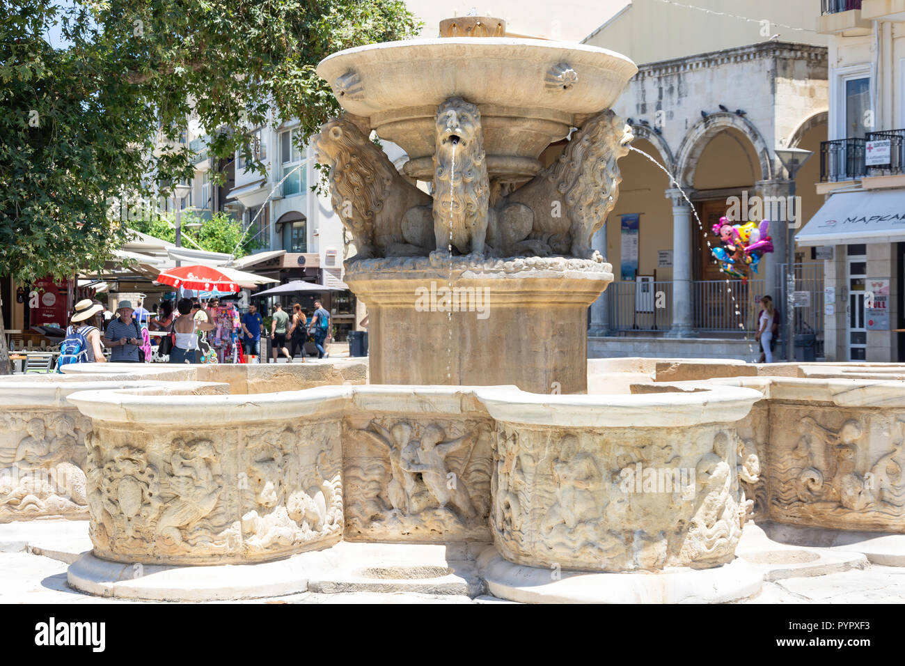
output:
[[[317,147],[357,250],[370,385],[363,362],[334,359],[0,381],[0,465],[16,472],[0,522],[87,510],[93,550],[71,586],[164,600],[462,584],[519,601],[723,602],[764,580],[737,556],[752,510],[901,531],[900,378],[667,363],[656,383],[588,381],[586,308],[613,280],[590,239],[632,139],[609,107],[635,67],[507,38],[497,19],[441,32],[319,64],[346,110]],[[404,173],[374,130],[407,151]],[[779,431],[792,421],[798,439]],[[60,465],[81,470],[72,506],[58,472],[38,493],[26,474]]]

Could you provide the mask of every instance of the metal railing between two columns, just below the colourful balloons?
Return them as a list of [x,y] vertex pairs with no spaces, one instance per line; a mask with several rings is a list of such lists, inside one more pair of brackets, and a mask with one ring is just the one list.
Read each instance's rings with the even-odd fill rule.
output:
[[754,333],[763,280],[698,280],[691,283],[692,325],[701,333]]

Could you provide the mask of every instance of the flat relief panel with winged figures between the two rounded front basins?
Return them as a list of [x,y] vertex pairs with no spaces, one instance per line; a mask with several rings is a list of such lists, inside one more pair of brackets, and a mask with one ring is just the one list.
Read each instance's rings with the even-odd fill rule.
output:
[[343,439],[347,538],[489,539],[486,422],[350,419]]

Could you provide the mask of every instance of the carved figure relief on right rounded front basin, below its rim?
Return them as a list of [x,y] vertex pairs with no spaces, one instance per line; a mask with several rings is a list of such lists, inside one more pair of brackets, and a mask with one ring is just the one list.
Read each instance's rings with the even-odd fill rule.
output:
[[510,561],[590,571],[713,566],[745,519],[734,430],[557,430],[498,423],[491,530]]

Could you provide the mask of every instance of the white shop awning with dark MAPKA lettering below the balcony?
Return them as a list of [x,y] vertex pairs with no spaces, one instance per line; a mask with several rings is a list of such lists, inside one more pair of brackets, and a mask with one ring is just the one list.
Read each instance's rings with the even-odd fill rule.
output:
[[801,246],[905,241],[905,190],[842,192],[795,234]]

